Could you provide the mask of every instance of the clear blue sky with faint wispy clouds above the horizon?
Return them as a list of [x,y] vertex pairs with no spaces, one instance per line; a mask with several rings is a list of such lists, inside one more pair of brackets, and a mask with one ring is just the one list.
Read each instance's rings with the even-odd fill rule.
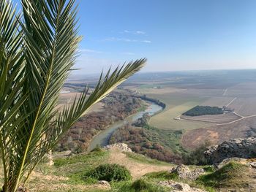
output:
[[255,0],[80,0],[76,73],[136,58],[143,72],[256,68]]

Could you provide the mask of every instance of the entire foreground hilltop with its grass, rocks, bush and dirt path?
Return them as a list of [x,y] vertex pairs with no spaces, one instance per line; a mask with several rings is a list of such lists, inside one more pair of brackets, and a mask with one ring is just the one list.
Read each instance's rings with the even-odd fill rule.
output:
[[253,146],[255,138],[231,139],[208,147],[206,157],[214,164],[206,166],[157,161],[132,152],[122,143],[88,154],[58,153],[53,155],[52,166],[39,164],[26,188],[31,192],[256,191]]

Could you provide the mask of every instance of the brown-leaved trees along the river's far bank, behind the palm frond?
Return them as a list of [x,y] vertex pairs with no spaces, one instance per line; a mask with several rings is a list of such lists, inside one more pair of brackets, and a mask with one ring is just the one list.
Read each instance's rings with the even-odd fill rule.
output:
[[105,130],[118,120],[124,120],[145,106],[140,98],[125,92],[110,93],[102,103],[104,104],[102,111],[91,112],[72,126],[56,146],[56,151],[72,150],[72,153],[82,153],[99,131]]

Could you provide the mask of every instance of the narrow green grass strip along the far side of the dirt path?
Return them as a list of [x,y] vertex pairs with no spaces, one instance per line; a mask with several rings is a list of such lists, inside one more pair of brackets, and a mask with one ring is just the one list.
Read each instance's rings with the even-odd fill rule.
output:
[[144,155],[140,155],[138,153],[130,153],[130,152],[124,152],[128,158],[131,158],[134,161],[143,163],[143,164],[155,164],[155,165],[164,165],[164,166],[170,166],[171,164],[168,164],[164,161],[158,161],[157,159],[148,158]]

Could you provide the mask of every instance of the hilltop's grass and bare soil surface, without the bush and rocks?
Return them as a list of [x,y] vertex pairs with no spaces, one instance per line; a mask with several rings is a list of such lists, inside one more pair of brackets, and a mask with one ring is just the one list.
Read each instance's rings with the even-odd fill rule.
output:
[[[218,171],[211,166],[189,166],[189,169],[198,167],[206,170],[206,174],[195,181],[178,179],[176,174],[168,171],[176,166],[162,161],[153,160],[137,153],[122,153],[119,150],[97,149],[89,154],[73,155],[71,157],[54,158],[54,165],[39,164],[29,180],[30,191],[171,191],[170,188],[159,185],[159,182],[174,180],[188,183],[192,187],[206,191],[225,191],[230,188],[243,188],[251,183],[246,174],[250,170],[247,166],[230,163]],[[111,181],[111,189],[106,185],[98,184],[94,177],[88,177],[99,165],[118,164],[124,166],[132,179]],[[118,172],[119,174],[119,172]]]

